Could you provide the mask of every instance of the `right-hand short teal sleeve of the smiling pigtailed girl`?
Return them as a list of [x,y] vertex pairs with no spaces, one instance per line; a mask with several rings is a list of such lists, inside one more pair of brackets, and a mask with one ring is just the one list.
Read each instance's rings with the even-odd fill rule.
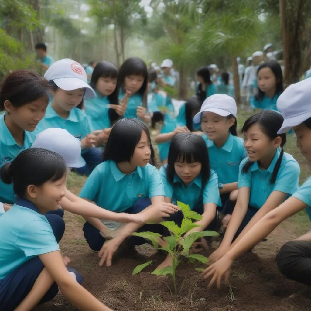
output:
[[286,162],[278,171],[272,191],[281,191],[288,194],[295,193],[298,188],[299,173],[300,168],[296,161]]

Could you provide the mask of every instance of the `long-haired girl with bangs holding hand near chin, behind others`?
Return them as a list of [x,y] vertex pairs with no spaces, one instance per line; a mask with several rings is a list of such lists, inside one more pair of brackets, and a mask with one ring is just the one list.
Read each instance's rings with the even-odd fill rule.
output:
[[119,99],[125,100],[127,106],[124,118],[139,118],[146,124],[151,121],[147,114],[148,71],[146,63],[131,57],[125,60],[119,70],[118,86]]

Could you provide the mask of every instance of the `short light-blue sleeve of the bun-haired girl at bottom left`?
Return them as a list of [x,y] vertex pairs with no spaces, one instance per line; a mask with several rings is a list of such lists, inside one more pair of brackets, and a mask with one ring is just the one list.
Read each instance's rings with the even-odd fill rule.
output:
[[16,246],[21,249],[26,257],[59,250],[51,226],[43,219],[33,220],[21,228]]

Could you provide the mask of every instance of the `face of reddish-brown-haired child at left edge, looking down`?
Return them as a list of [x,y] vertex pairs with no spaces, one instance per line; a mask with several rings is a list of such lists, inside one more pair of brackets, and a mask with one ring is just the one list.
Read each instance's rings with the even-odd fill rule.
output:
[[25,131],[33,132],[38,123],[44,118],[48,106],[47,98],[39,98],[21,107],[13,107],[10,102],[5,103],[5,108],[11,120]]

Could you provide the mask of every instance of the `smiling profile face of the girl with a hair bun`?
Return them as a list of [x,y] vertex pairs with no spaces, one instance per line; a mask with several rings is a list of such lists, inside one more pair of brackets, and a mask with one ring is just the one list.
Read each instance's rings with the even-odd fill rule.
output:
[[57,181],[47,181],[41,186],[27,188],[28,194],[34,199],[41,212],[58,210],[60,202],[66,194],[66,179],[67,174]]

